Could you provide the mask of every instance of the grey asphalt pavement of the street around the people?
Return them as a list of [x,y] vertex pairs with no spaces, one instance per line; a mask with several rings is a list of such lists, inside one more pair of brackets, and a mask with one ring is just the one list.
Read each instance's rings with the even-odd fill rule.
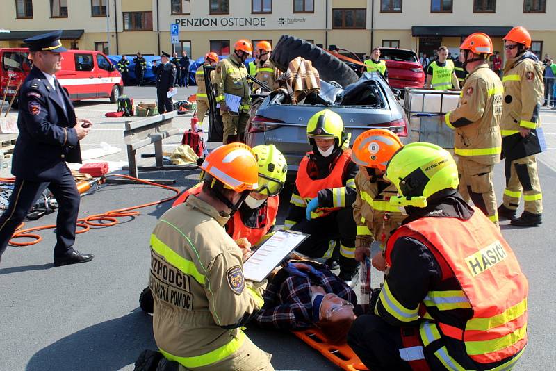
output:
[[[180,89],[183,97],[194,88]],[[154,88],[126,88],[138,101],[153,101]],[[107,119],[115,110],[107,100],[76,104],[79,117],[92,119],[92,133],[82,149],[99,148],[101,142],[121,148],[120,152],[92,160],[126,160],[122,139],[122,120]],[[543,186],[543,225],[519,229],[502,222],[502,233],[509,241],[529,279],[529,345],[515,370],[553,370],[556,363],[556,262],[554,258],[556,196],[556,111],[541,113],[548,150],[539,155],[539,174]],[[13,113],[11,113],[13,114]],[[133,118],[138,119],[138,118]],[[190,115],[179,117],[175,126],[185,129]],[[165,140],[165,150],[179,144],[181,135]],[[152,149],[145,149],[145,153]],[[150,163],[149,163],[150,162]],[[154,159],[143,158],[152,165]],[[6,175],[9,169],[3,170]],[[120,172],[125,174],[125,172]],[[142,178],[175,179],[183,190],[197,183],[197,170],[140,173]],[[503,167],[496,167],[497,197],[502,199]],[[140,185],[104,185],[84,195],[80,217],[115,208],[145,204],[172,195],[169,190]],[[282,200],[282,206],[287,203]],[[0,370],[133,370],[143,349],[156,349],[152,318],[138,308],[138,297],[149,274],[149,235],[158,218],[171,202],[142,208],[136,217],[121,218],[108,228],[92,228],[79,234],[76,248],[95,254],[90,263],[54,267],[56,236],[42,231],[42,242],[31,247],[8,247],[0,263]],[[283,223],[284,207],[278,223]],[[521,212],[521,210],[520,210]],[[55,224],[56,213],[26,226]],[[376,274],[375,277],[379,277]],[[373,286],[378,286],[375,279]],[[552,298],[552,299],[551,299]],[[261,331],[248,326],[247,335],[261,349],[271,353],[277,370],[338,370],[318,352],[290,333]]]

